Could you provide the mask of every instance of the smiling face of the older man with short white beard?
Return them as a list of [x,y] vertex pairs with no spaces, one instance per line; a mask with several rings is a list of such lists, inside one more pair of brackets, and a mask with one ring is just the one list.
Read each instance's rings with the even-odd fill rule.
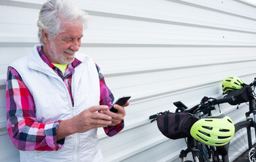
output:
[[[51,63],[68,64],[74,61],[75,52],[79,51],[81,38],[83,36],[83,26],[79,22],[64,23],[62,30],[54,39],[45,43],[43,47],[47,59]],[[45,51],[47,50],[47,51]]]

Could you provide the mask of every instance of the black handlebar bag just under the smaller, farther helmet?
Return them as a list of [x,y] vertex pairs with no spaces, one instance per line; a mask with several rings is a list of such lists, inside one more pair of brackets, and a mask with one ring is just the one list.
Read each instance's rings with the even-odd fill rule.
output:
[[251,99],[254,99],[250,86],[244,86],[238,90],[231,90],[226,97],[234,97],[234,101],[229,101],[230,105],[238,105],[240,103],[246,103]]

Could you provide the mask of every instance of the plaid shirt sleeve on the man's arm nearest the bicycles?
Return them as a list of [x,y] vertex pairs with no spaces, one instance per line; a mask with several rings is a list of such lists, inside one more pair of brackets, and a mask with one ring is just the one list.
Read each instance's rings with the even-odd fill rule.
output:
[[[100,67],[96,64],[96,68],[98,70],[99,78],[100,78],[100,105],[108,105],[108,107],[112,106],[114,101],[114,96],[108,86],[106,86],[106,82],[104,80],[104,76],[100,71]],[[119,133],[125,127],[125,122],[121,121],[116,126],[108,126],[104,128],[106,135],[114,136],[115,134]]]

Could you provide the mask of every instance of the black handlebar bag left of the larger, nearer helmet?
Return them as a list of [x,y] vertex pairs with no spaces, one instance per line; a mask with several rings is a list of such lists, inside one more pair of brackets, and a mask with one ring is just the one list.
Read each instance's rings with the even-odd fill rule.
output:
[[175,140],[191,136],[190,129],[196,121],[198,119],[188,113],[165,111],[163,115],[157,117],[157,126],[163,135]]

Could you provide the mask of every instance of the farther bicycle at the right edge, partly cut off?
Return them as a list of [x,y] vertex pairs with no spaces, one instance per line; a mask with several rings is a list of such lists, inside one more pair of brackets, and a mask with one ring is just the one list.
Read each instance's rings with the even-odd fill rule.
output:
[[[255,109],[255,86],[256,78],[250,84],[242,84],[244,88],[247,88],[247,95],[249,98],[249,111],[245,113],[246,120],[240,121],[235,124],[235,134],[229,144],[228,148],[228,157],[230,161],[237,161],[237,158],[241,154],[247,155],[249,161],[256,161],[256,152],[253,148],[256,140],[256,109]],[[238,104],[239,105],[239,104]],[[238,107],[237,107],[238,109]],[[253,114],[253,117],[250,115]],[[253,136],[253,132],[255,136]]]

